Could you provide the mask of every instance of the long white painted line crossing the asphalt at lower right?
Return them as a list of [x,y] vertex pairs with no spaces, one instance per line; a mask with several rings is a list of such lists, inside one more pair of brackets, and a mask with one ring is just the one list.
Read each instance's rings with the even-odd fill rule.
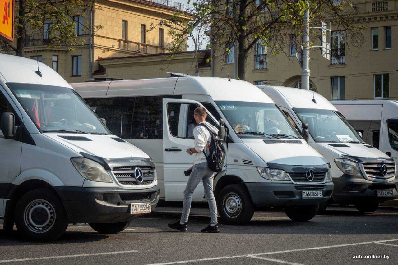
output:
[[[234,258],[240,258],[240,257],[255,258],[255,256],[261,256],[261,255],[271,255],[271,254],[289,253],[289,252],[306,251],[306,250],[327,249],[327,248],[334,248],[334,247],[358,246],[358,245],[375,244],[375,243],[376,244],[380,244],[380,243],[384,243],[384,242],[393,242],[393,241],[398,241],[398,239],[368,241],[368,242],[359,242],[359,243],[341,244],[341,245],[323,246],[323,247],[307,247],[307,248],[300,248],[300,249],[288,249],[288,250],[281,250],[281,251],[272,251],[272,252],[246,254],[246,255],[236,255],[236,256],[224,256],[224,257],[212,257],[212,258],[205,258],[205,259],[191,259],[191,260],[183,260],[183,261],[171,261],[171,262],[163,262],[163,263],[152,263],[152,264],[148,264],[148,265],[182,264],[182,263],[193,263],[193,262],[199,262],[199,261],[211,261],[211,260],[218,260],[218,259],[234,259]],[[275,260],[275,262],[278,262],[278,261]],[[295,264],[295,265],[297,265],[297,263],[289,263],[287,261],[282,261],[282,260],[279,260],[279,262],[285,263],[285,264]]]

